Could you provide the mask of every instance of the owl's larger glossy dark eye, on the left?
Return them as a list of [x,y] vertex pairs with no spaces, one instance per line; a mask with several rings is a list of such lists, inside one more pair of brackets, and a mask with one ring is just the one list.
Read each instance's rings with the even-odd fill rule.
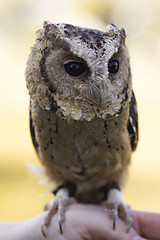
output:
[[87,72],[87,66],[83,62],[68,62],[64,64],[66,72],[73,77],[79,77]]

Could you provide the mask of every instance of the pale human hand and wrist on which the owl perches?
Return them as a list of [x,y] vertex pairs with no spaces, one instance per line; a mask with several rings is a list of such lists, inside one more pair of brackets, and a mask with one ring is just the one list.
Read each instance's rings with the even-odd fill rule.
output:
[[126,233],[126,224],[118,219],[113,231],[113,221],[103,206],[71,204],[65,212],[63,235],[59,232],[57,214],[42,235],[43,212],[23,222],[0,223],[0,240],[142,240],[160,239],[160,214],[129,210],[134,224]]

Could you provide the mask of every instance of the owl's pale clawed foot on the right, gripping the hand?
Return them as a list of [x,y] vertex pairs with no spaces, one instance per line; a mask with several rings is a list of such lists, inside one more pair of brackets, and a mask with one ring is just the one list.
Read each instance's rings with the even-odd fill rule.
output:
[[118,189],[110,189],[107,201],[103,203],[107,207],[107,212],[113,219],[113,230],[116,229],[118,216],[126,223],[126,233],[130,231],[133,225],[133,219],[128,214],[128,205],[123,199],[122,193]]

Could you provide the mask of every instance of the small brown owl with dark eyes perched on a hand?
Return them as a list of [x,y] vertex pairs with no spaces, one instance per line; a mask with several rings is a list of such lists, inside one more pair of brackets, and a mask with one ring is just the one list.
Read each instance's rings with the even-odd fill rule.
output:
[[132,219],[121,188],[138,141],[138,116],[124,29],[106,31],[44,22],[25,72],[30,131],[55,194],[42,224],[73,201],[106,204]]

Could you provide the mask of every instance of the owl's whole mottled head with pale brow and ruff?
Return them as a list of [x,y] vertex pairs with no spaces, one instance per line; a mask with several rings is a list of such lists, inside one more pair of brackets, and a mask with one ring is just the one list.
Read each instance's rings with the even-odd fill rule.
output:
[[74,119],[118,115],[132,92],[125,37],[113,24],[102,32],[45,22],[27,62],[31,99]]

